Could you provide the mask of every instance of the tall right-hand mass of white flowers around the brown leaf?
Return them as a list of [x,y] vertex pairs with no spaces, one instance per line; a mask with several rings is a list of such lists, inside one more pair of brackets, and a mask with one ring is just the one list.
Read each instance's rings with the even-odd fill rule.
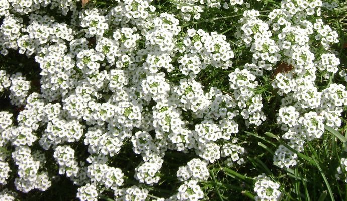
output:
[[[331,44],[338,42],[337,33],[319,18],[321,6],[320,0],[284,0],[281,8],[268,14],[268,20],[263,20],[256,10],[245,11],[238,21],[241,26],[236,37],[250,48],[252,64],[229,75],[233,89],[240,84],[245,85],[246,89],[256,89],[257,83],[254,87],[247,82],[263,75],[264,70],[273,70],[271,85],[282,96],[277,123],[285,132],[282,137],[289,141],[288,145],[299,152],[304,150],[305,141],[323,135],[324,124],[334,128],[341,125],[338,117],[345,105],[346,90],[341,84],[331,83],[321,91],[314,84],[318,70],[328,77],[333,76],[340,64],[336,55],[329,50]],[[314,21],[309,17],[312,15],[316,17]],[[317,47],[321,51],[311,48],[314,41],[310,38],[321,45],[321,48]],[[276,63],[280,65],[274,68]],[[252,91],[243,90],[245,92],[241,94],[251,96]],[[261,100],[260,95],[259,98]],[[259,103],[253,99],[252,102]],[[256,111],[260,111],[256,125],[262,120],[259,118],[262,116],[261,108],[261,102],[255,106]],[[241,115],[247,117],[247,112],[242,112]],[[296,165],[296,160],[297,155],[283,145],[275,151],[274,162],[281,168]]]

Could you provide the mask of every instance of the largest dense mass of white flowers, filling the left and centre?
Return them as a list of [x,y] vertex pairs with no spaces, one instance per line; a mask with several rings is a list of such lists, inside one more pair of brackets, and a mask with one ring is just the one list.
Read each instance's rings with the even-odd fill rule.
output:
[[[238,132],[238,125],[232,120],[237,112],[227,111],[235,104],[229,95],[222,95],[217,89],[204,94],[203,86],[195,78],[207,66],[230,67],[234,57],[231,46],[225,36],[201,29],[190,29],[184,38],[178,37],[181,31],[178,19],[167,13],[151,16],[149,13],[155,8],[149,3],[119,2],[109,13],[98,9],[73,12],[71,27],[79,23],[84,37],[74,35],[72,28],[47,15],[30,14],[26,27],[21,19],[8,16],[2,33],[9,39],[7,41],[16,43],[11,42],[4,48],[19,48],[20,53],[36,54],[42,76],[42,96],[33,97],[34,106],[26,106],[20,113],[19,120],[26,127],[11,130],[16,139],[12,144],[31,146],[38,141],[43,149],[55,150],[53,157],[59,165],[59,174],[66,173],[75,183],[86,183],[88,181],[80,176],[85,174],[92,182],[113,186],[114,190],[123,183],[122,173],[119,169],[107,168],[105,157],[117,155],[123,141],[130,137],[135,153],[141,154],[144,160],[135,169],[134,176],[149,185],[160,179],[159,170],[167,148],[185,152],[194,148],[199,156],[210,162],[220,158],[220,147],[215,142],[229,140],[231,134]],[[208,4],[211,6],[212,2]],[[66,2],[65,6],[52,3],[52,8],[55,7],[61,8],[63,14],[69,9],[74,11],[71,2]],[[14,27],[11,34],[6,31],[9,29],[7,22]],[[131,28],[125,26],[127,23],[132,24]],[[95,42],[92,41],[94,36]],[[140,40],[145,41],[144,49],[138,49]],[[177,47],[178,41],[184,41],[184,46]],[[88,43],[95,43],[95,48]],[[180,86],[172,86],[166,74],[158,72],[161,68],[168,72],[174,69],[172,51],[183,53],[178,61],[182,63],[180,71],[184,75],[193,71],[190,79],[181,80]],[[190,61],[195,66],[190,65]],[[6,84],[5,79],[2,83]],[[106,95],[109,91],[113,92],[111,96]],[[219,97],[214,98],[217,95]],[[102,98],[105,102],[100,103]],[[24,101],[25,97],[20,99]],[[45,99],[48,103],[36,99]],[[49,103],[56,100],[61,102]],[[157,105],[146,108],[151,100]],[[209,100],[213,101],[213,107]],[[153,114],[149,112],[151,109]],[[182,120],[182,111],[196,112],[195,118],[206,114],[219,122],[216,124],[206,118],[195,130],[189,130],[188,122]],[[228,120],[223,119],[226,116]],[[78,165],[69,145],[62,145],[81,139],[85,129],[81,121],[88,125],[84,144],[91,154],[88,161],[91,164],[86,168]],[[45,127],[38,139],[35,131],[40,126]],[[133,128],[143,131],[132,135]],[[153,129],[155,137],[148,133]],[[205,145],[204,142],[209,143]],[[118,180],[114,179],[114,174]]]

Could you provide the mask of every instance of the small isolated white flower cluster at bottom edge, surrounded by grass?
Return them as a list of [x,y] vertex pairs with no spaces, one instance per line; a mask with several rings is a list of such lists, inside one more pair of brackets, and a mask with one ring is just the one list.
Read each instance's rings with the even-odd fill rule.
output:
[[279,190],[280,184],[271,180],[271,178],[261,174],[255,178],[254,192],[255,200],[279,200],[281,191]]

